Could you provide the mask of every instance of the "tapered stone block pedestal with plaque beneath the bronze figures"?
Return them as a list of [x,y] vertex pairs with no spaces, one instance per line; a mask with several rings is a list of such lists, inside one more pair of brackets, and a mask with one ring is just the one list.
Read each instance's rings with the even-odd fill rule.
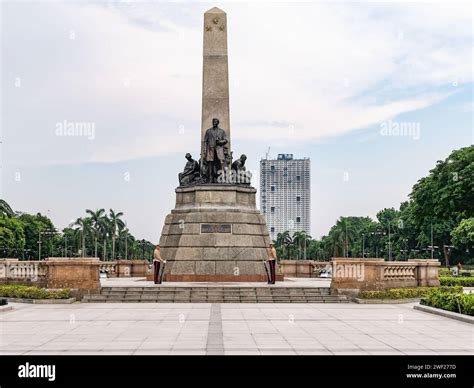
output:
[[160,239],[164,280],[266,281],[271,240],[255,194],[244,185],[178,187]]

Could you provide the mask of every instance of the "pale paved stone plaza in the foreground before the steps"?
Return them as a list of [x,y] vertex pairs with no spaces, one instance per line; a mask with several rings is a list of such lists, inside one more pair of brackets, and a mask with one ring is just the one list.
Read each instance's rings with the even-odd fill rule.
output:
[[413,303],[11,303],[1,354],[474,354],[474,325]]

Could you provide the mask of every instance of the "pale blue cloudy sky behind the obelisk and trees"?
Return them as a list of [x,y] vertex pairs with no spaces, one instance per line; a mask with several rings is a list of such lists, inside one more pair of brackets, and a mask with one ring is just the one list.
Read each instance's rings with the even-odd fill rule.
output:
[[269,149],[311,159],[313,237],[398,208],[474,142],[471,2],[0,4],[0,197],[60,228],[112,208],[159,240],[184,155],[199,154],[214,6],[228,18],[234,155],[257,188]]

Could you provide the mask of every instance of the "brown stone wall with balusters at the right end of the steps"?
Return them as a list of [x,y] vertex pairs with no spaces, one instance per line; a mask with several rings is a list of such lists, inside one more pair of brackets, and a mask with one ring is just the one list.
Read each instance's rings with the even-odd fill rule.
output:
[[439,267],[438,260],[333,258],[331,289],[357,295],[365,290],[439,286]]

